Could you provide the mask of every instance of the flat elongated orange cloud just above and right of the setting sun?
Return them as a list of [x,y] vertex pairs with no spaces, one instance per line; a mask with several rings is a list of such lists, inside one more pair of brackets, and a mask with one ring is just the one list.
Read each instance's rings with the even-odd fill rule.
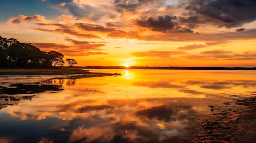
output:
[[136,57],[170,57],[171,55],[184,54],[183,51],[148,51],[148,52],[135,52],[130,55]]

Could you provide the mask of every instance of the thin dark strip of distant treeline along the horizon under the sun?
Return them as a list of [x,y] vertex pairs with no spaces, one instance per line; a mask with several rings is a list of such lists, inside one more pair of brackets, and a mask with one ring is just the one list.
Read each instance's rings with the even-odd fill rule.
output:
[[183,67],[183,66],[74,66],[74,68],[86,68],[86,69],[163,69],[163,70],[256,70],[255,68],[243,68],[243,67]]

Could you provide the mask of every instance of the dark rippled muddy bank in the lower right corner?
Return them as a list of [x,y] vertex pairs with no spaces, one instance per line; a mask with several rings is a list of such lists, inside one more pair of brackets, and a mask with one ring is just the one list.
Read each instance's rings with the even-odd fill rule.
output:
[[209,105],[194,140],[184,143],[256,143],[256,96],[232,95],[222,106]]

